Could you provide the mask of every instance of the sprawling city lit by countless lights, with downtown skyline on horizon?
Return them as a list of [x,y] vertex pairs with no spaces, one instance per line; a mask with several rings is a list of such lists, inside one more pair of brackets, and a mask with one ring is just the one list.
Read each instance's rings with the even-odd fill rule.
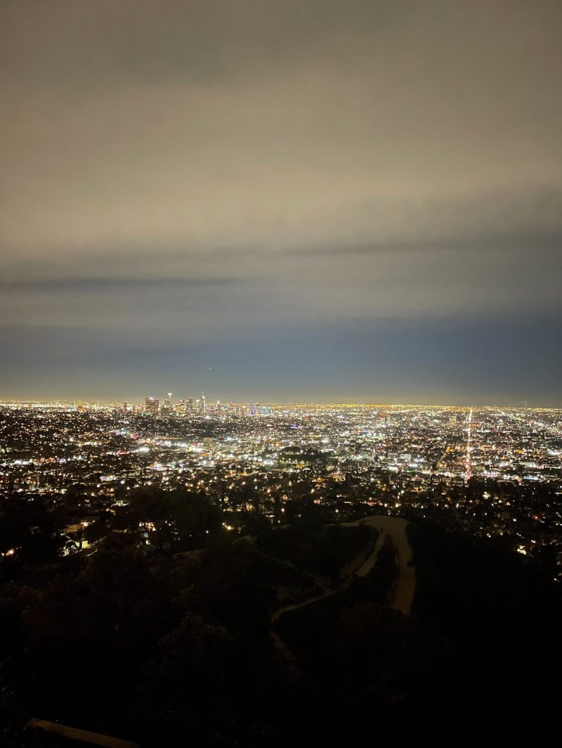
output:
[[[143,488],[186,488],[241,532],[321,506],[502,536],[562,578],[562,410],[528,407],[4,402],[0,491],[66,508],[61,554],[92,553]],[[151,530],[143,527],[144,542]],[[126,530],[124,530],[126,531]],[[173,533],[173,528],[172,528]],[[1,548],[2,556],[17,548]]]

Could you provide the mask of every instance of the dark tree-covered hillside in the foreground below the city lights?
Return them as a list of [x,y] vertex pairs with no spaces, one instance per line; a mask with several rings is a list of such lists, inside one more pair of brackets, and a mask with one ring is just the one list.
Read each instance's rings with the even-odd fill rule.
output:
[[30,717],[148,748],[505,737],[555,715],[560,591],[498,542],[410,524],[405,616],[392,544],[350,578],[376,532],[313,511],[238,534],[205,497],[154,492],[97,534],[63,558],[22,535],[1,560],[2,745],[67,745]]

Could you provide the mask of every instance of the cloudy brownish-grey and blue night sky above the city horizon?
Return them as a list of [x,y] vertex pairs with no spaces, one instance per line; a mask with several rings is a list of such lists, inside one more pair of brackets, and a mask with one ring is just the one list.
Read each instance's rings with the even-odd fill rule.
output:
[[4,0],[0,398],[561,404],[560,0]]

